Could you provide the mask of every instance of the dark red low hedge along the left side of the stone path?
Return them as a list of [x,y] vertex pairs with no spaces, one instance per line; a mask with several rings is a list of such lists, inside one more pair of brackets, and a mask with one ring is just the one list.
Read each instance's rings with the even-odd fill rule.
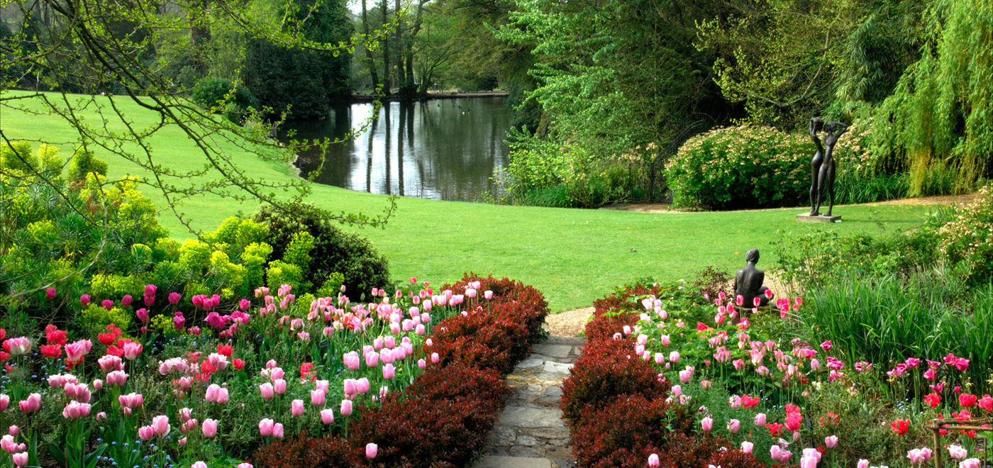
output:
[[[548,313],[544,296],[507,278],[467,274],[452,289],[463,293],[472,281],[494,291],[464,315],[435,327],[437,365],[403,392],[391,393],[379,407],[356,410],[347,435],[276,441],[257,450],[257,467],[448,467],[464,466],[483,449],[487,435],[511,391],[503,376],[530,353]],[[468,302],[467,302],[468,303]],[[378,445],[372,460],[365,445]]]

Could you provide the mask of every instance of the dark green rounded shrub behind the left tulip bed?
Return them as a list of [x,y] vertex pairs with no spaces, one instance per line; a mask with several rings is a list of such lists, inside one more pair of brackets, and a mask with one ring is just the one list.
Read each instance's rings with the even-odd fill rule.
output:
[[[319,218],[313,206],[299,204],[291,211],[292,215],[288,215],[266,207],[253,219],[268,228],[266,243],[272,245],[271,258],[285,260],[297,233],[306,232],[314,237],[314,247],[309,251],[312,259],[301,278],[304,283],[324,285],[333,273],[338,272],[345,278],[346,294],[354,298],[368,294],[373,286],[389,285],[386,258],[368,239],[332,226]],[[290,257],[296,257],[296,254]],[[282,271],[285,272],[285,268]]]

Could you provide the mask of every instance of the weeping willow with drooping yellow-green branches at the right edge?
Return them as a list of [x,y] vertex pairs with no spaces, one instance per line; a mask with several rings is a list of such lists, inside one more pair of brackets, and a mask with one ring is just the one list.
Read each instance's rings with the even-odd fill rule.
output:
[[993,3],[936,0],[922,58],[876,112],[875,151],[906,161],[911,195],[963,192],[993,165]]

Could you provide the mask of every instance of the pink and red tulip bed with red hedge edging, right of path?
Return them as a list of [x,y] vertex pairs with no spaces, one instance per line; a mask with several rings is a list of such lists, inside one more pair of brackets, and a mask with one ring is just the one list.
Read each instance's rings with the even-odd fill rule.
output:
[[850,363],[830,341],[796,336],[800,298],[773,302],[744,309],[681,283],[597,301],[563,384],[579,465],[896,468],[940,450],[945,466],[990,466],[993,432],[941,430],[931,445],[935,418],[989,427],[993,397],[971,392],[986,383],[966,373],[977,363]]

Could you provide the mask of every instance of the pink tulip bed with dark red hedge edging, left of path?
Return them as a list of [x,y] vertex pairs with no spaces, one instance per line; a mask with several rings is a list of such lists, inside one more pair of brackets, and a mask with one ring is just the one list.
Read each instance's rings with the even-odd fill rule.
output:
[[[500,373],[540,330],[543,297],[519,282],[471,276],[440,291],[411,278],[394,293],[372,292],[376,302],[352,303],[259,288],[253,299],[220,303],[152,286],[145,303],[168,297],[171,313],[149,317],[130,298],[106,299],[108,311],[135,314],[134,329],[111,324],[98,337],[54,325],[41,337],[0,330],[0,426],[8,427],[0,467],[469,459],[507,394]],[[80,298],[90,300],[104,302]],[[474,340],[479,350],[456,348]],[[487,367],[472,362],[484,357]],[[284,437],[293,441],[278,442]],[[303,443],[312,438],[327,443]],[[270,448],[280,443],[298,450]]]

